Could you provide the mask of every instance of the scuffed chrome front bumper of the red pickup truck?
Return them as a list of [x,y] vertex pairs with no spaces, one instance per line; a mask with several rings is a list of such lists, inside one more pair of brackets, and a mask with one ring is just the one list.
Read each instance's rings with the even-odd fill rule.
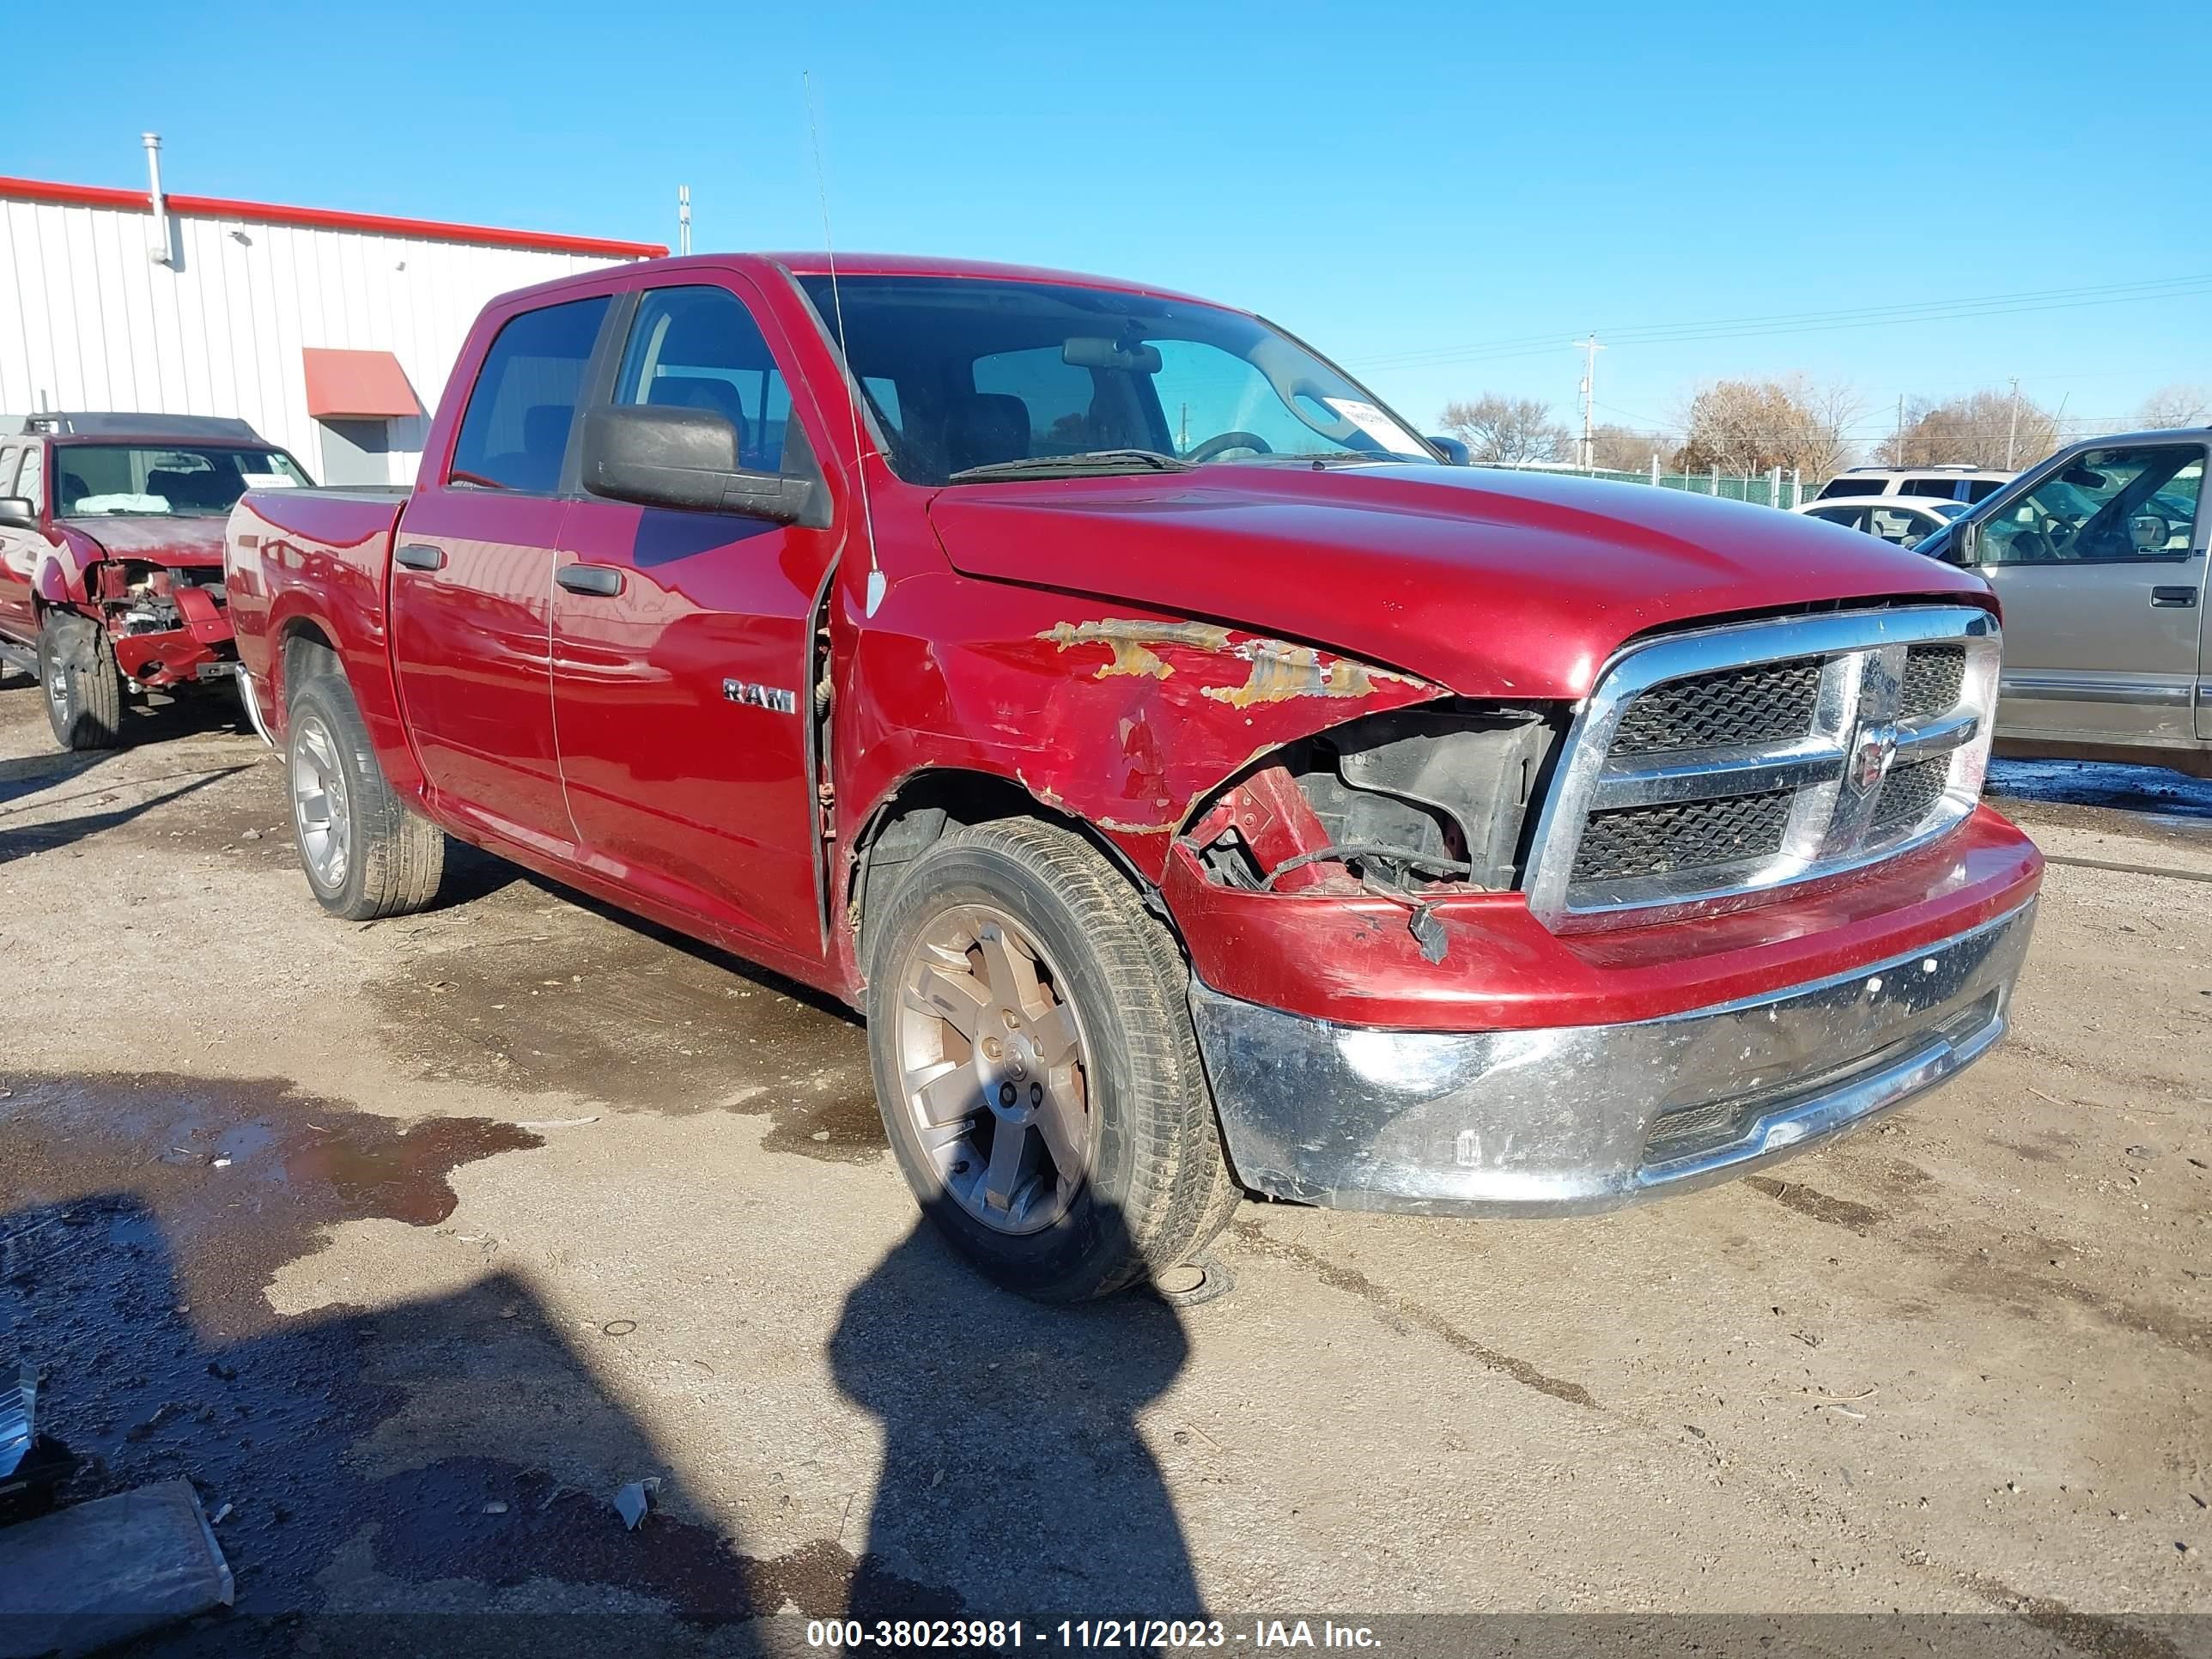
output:
[[1190,1011],[1237,1177],[1340,1210],[1577,1214],[1840,1135],[1997,1037],[2035,902],[1911,956],[1663,1020],[1371,1031],[1225,998]]

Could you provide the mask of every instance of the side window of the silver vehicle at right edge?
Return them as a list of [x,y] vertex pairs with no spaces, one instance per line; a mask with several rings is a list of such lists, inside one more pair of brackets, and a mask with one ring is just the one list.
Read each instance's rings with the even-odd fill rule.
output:
[[1980,564],[2183,560],[2205,456],[2197,447],[2090,449],[1989,518]]

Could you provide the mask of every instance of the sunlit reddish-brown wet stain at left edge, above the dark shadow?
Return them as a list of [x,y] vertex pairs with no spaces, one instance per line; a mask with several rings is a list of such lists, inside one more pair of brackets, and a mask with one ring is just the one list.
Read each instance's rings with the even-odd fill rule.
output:
[[[177,1256],[199,1323],[243,1336],[276,1321],[270,1274],[316,1248],[323,1228],[387,1217],[445,1221],[451,1170],[544,1146],[489,1117],[414,1126],[301,1095],[279,1079],[9,1077],[0,1170],[13,1206],[58,1206],[60,1239],[77,1199],[131,1194]],[[53,1241],[49,1241],[53,1243]],[[13,1285],[46,1250],[20,1241],[0,1265]]]

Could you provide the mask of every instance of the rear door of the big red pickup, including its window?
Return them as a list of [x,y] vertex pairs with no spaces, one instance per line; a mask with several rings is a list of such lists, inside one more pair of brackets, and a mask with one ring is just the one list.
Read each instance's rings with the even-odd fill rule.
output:
[[553,549],[608,305],[595,294],[500,323],[392,555],[392,664],[429,787],[456,816],[555,856],[573,856],[575,832],[553,748]]

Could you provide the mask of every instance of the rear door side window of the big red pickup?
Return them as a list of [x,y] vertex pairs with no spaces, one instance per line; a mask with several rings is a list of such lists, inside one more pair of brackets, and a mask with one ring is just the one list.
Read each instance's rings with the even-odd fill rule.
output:
[[509,319],[469,392],[447,482],[551,495],[560,489],[584,367],[606,319],[606,294]]

